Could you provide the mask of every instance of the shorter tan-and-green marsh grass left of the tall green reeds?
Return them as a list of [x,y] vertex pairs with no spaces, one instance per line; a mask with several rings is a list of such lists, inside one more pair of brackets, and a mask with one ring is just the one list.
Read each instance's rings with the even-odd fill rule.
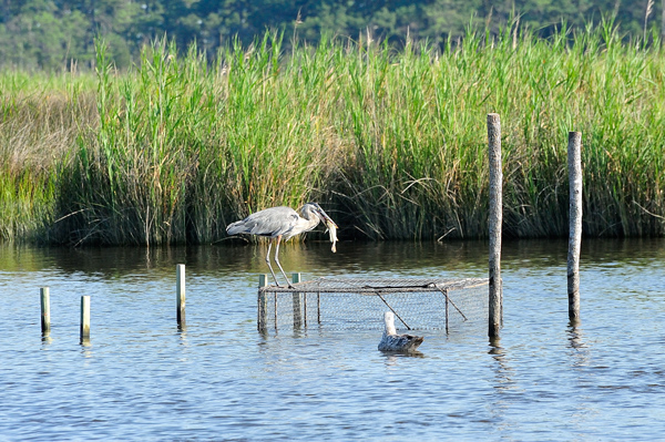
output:
[[90,75],[0,73],[0,238],[49,240],[60,171],[95,125]]

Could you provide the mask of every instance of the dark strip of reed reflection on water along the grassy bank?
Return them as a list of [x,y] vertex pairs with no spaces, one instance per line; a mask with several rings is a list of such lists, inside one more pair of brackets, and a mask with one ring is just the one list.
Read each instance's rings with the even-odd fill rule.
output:
[[[172,271],[175,264],[186,264],[200,274],[267,273],[267,245],[214,245],[186,247],[31,247],[0,245],[0,269],[40,270],[57,268],[65,274],[113,277],[155,270]],[[567,240],[505,240],[502,265],[510,268],[529,263],[531,267],[565,263]],[[641,259],[665,259],[665,238],[625,238],[604,240],[584,238],[581,266],[587,263],[623,263]],[[280,260],[287,273],[310,271],[317,275],[362,271],[422,273],[487,271],[488,244],[475,241],[411,243],[349,241],[330,251],[327,241],[287,243],[280,248]]]

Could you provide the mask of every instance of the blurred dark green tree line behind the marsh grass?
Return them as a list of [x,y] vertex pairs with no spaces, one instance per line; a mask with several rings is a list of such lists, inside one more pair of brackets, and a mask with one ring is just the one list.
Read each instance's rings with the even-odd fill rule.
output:
[[654,0],[0,0],[0,68],[90,66],[95,35],[116,66],[126,68],[142,45],[164,35],[181,49],[196,42],[214,56],[233,39],[248,44],[266,30],[313,44],[321,33],[441,44],[469,25],[497,32],[518,17],[541,37],[562,21],[576,28],[602,18],[614,18],[626,39],[665,31],[663,6]]

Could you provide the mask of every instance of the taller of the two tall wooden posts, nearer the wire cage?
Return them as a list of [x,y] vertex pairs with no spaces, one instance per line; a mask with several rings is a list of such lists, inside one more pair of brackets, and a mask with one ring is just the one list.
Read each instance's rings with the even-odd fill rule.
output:
[[501,224],[503,220],[501,171],[501,120],[499,114],[488,114],[488,143],[490,157],[490,318],[489,336],[499,337],[503,316],[503,288],[501,284]]

